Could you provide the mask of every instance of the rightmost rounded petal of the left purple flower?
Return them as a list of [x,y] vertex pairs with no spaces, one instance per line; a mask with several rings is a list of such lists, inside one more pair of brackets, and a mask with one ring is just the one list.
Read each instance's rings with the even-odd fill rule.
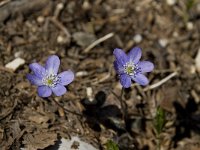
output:
[[74,80],[74,73],[71,70],[64,71],[58,75],[60,77],[60,84],[68,85]]

